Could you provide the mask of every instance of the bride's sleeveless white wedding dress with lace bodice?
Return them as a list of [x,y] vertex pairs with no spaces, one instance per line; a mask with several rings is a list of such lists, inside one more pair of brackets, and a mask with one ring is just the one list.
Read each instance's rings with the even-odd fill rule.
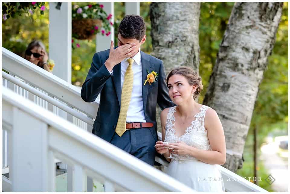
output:
[[[209,107],[202,105],[195,120],[187,127],[185,133],[175,134],[176,107],[169,108],[166,120],[165,142],[183,141],[189,146],[202,150],[212,150],[205,129],[205,112]],[[198,192],[224,192],[224,182],[218,164],[207,164],[189,155],[172,154],[173,158],[167,174]]]

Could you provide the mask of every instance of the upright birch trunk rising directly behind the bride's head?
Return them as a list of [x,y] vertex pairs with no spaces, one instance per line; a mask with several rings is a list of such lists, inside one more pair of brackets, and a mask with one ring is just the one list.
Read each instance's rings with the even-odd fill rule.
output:
[[[163,61],[166,75],[178,66],[198,71],[200,2],[152,2],[150,4],[151,55]],[[161,132],[160,108],[156,110]]]

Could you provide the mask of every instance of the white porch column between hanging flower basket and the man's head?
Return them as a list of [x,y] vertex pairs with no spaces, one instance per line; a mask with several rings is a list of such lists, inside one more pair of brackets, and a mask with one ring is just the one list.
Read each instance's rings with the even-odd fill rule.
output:
[[[112,14],[111,22],[114,23],[114,2],[98,2],[104,5],[104,11],[109,15]],[[100,33],[96,37],[96,52],[110,49],[111,40],[114,42],[114,27],[111,26],[111,34],[109,36],[102,36]]]

